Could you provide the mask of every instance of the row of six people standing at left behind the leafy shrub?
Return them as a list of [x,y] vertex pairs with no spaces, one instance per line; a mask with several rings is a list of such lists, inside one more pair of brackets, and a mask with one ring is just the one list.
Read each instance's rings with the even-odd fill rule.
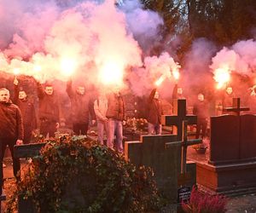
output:
[[[11,101],[9,89],[0,89],[0,183],[3,186],[3,157],[9,147],[14,175],[20,180],[20,160],[14,157],[15,145],[30,143],[33,132],[39,124],[39,132],[44,137],[54,137],[60,126],[61,106],[58,95],[51,84],[43,85],[36,81],[38,92],[38,117],[35,106],[29,101],[26,91],[14,80],[14,98]],[[123,153],[123,124],[125,123],[125,101],[119,88],[113,88],[108,94],[102,89],[98,95],[85,93],[84,85],[73,90],[73,83],[67,81],[67,95],[71,101],[73,133],[87,135],[89,123],[97,121],[98,141],[104,144],[107,133],[107,146]],[[38,121],[37,121],[38,118]],[[116,141],[114,143],[114,135]]]

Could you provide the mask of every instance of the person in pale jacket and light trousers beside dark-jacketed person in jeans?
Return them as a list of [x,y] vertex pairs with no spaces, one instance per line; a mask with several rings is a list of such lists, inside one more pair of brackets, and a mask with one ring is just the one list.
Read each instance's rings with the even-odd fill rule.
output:
[[103,89],[99,90],[99,95],[94,101],[94,111],[97,119],[98,141],[104,144],[104,132],[107,133],[108,118],[106,117],[108,110],[108,98]]

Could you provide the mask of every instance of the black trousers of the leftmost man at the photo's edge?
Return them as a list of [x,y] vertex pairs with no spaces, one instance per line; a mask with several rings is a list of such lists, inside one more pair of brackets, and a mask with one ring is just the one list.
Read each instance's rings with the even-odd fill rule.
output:
[[[14,175],[15,178],[19,181],[20,180],[20,159],[14,157],[14,146],[16,144],[16,139],[8,139],[8,138],[1,138],[0,139],[0,183],[1,186],[3,186],[3,157],[5,153],[5,149],[8,145],[10,153],[12,155],[13,159],[13,170],[14,170]],[[1,187],[0,186],[0,187]]]

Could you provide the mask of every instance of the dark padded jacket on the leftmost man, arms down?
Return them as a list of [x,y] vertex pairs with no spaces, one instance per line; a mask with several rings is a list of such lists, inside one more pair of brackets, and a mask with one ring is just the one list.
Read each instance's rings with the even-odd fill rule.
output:
[[0,102],[0,138],[23,140],[24,130],[19,107],[11,101]]

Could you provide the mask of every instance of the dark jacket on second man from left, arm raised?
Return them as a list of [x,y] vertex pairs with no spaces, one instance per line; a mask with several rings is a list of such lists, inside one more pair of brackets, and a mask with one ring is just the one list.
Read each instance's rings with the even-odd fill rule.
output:
[[37,116],[35,107],[33,103],[27,99],[19,99],[19,87],[17,85],[15,85],[14,104],[20,108],[24,128],[26,129],[26,127],[28,127],[29,130],[37,129]]

